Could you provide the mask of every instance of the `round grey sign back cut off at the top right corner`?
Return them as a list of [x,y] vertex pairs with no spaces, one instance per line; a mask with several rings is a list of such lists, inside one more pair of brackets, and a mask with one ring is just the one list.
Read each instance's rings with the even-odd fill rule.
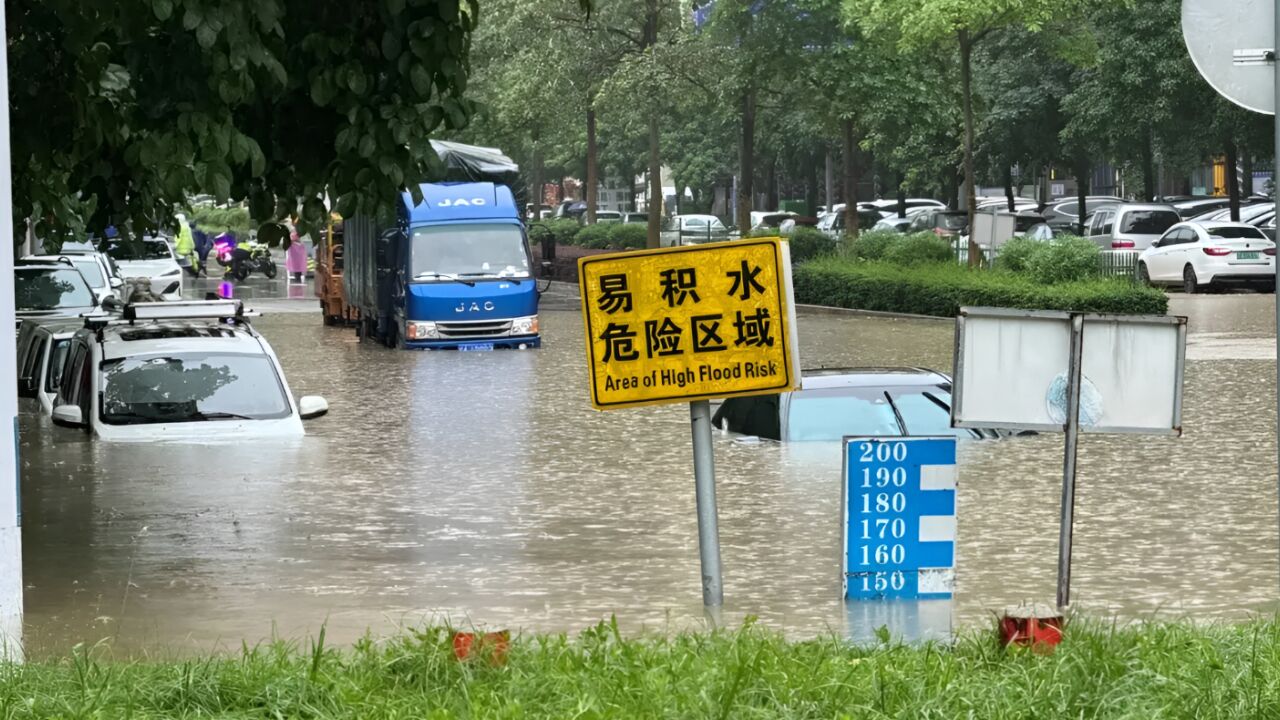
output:
[[1254,113],[1276,109],[1275,0],[1183,0],[1183,38],[1204,79]]

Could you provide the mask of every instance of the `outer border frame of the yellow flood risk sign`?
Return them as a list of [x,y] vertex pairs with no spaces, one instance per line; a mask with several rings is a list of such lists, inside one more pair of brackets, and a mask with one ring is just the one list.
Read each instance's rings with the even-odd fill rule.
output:
[[[680,393],[676,391],[672,395],[664,397],[650,397],[645,400],[635,401],[600,401],[599,398],[599,383],[596,378],[596,357],[595,357],[595,345],[594,333],[591,327],[591,309],[589,306],[589,287],[586,283],[586,269],[598,263],[617,261],[617,260],[634,260],[648,256],[659,255],[691,255],[698,252],[708,251],[723,251],[730,249],[744,249],[744,247],[758,247],[769,246],[773,250],[773,258],[776,265],[776,278],[774,288],[778,292],[778,304],[781,306],[781,313],[776,318],[778,324],[777,334],[778,343],[782,346],[782,372],[780,380],[769,387],[753,388],[748,391],[733,391],[733,392],[703,392],[703,393]],[[620,410],[625,407],[646,407],[654,405],[671,405],[677,402],[695,402],[703,400],[716,400],[726,397],[750,397],[759,395],[777,395],[782,392],[791,392],[799,389],[800,387],[800,368],[799,368],[799,337],[796,333],[796,304],[795,304],[795,290],[791,281],[791,250],[790,245],[778,237],[755,237],[746,240],[735,240],[728,242],[705,242],[698,245],[682,245],[676,247],[654,247],[648,250],[634,250],[626,252],[609,252],[602,255],[589,255],[579,260],[577,265],[579,274],[579,292],[582,299],[582,328],[585,333],[586,351],[588,351],[588,380],[590,383],[591,406],[596,410]]]

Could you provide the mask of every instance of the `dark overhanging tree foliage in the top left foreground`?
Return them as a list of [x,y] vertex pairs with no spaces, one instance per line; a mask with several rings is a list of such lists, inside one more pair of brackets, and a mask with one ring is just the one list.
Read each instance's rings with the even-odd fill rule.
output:
[[196,193],[260,220],[303,197],[320,223],[326,193],[378,213],[431,176],[428,137],[472,114],[474,0],[99,5],[8,5],[10,210],[42,236],[172,225]]

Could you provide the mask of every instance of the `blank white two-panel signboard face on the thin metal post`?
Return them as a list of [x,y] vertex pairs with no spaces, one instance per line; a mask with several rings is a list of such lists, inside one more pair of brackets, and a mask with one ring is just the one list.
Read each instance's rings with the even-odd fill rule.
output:
[[[1185,318],[1084,315],[1080,429],[1181,434]],[[963,309],[952,423],[1061,432],[1071,314]]]

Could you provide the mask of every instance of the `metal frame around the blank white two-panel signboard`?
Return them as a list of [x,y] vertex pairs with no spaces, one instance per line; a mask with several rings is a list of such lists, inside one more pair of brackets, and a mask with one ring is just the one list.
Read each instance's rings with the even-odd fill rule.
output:
[[[1176,357],[1174,364],[1174,406],[1171,409],[1172,424],[1167,430],[1152,429],[1152,428],[1132,428],[1132,427],[1082,427],[1080,430],[1085,433],[1100,433],[1100,434],[1155,434],[1155,436],[1171,436],[1180,437],[1183,434],[1183,380],[1185,378],[1187,370],[1187,318],[1176,315],[1114,315],[1114,314],[1091,314],[1091,313],[1068,313],[1057,310],[1015,310],[1007,307],[961,307],[960,314],[956,315],[956,333],[955,333],[955,369],[952,374],[952,388],[951,388],[951,419],[952,427],[956,428],[989,428],[993,425],[989,420],[964,420],[964,379],[965,379],[965,323],[969,318],[1018,318],[1029,320],[1056,320],[1070,327],[1071,318],[1079,315],[1084,327],[1087,328],[1089,323],[1119,323],[1119,324],[1140,324],[1140,325],[1178,325],[1178,346]],[[1085,331],[1087,332],[1087,331]],[[1069,354],[1069,347],[1064,346],[1064,356]],[[1065,365],[1064,365],[1065,368]],[[1033,430],[1033,432],[1065,432],[1066,423],[1062,424],[1046,424],[1046,423],[1007,423],[1000,421],[995,423],[996,427],[1007,428],[1011,430]]]

